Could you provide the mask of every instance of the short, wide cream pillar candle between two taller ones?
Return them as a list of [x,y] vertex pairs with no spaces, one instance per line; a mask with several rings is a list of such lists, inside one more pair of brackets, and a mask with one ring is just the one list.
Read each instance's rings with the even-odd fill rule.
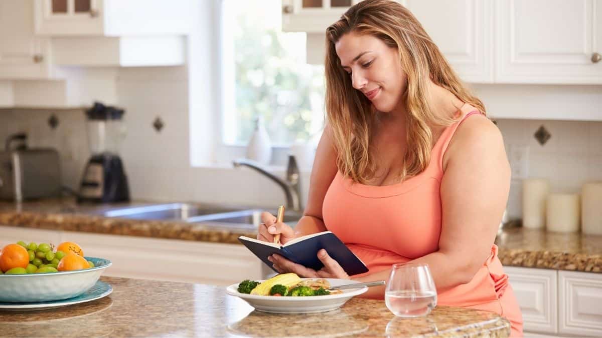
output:
[[578,194],[550,194],[545,207],[545,226],[551,232],[579,231]]

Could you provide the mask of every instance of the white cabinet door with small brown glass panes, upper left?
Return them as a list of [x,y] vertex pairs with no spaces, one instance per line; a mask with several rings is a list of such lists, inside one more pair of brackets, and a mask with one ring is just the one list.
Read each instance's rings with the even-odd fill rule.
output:
[[104,0],[34,0],[36,34],[102,35]]

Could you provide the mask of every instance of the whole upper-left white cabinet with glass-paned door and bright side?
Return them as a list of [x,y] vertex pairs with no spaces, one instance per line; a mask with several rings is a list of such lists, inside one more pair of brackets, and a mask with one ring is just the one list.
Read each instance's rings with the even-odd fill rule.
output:
[[187,0],[34,0],[38,35],[187,34]]

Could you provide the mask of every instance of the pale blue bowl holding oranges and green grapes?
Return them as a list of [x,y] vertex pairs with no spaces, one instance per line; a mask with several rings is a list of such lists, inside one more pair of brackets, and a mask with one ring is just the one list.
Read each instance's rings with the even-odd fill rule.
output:
[[108,259],[85,257],[94,268],[47,274],[0,275],[0,302],[26,303],[73,298],[94,286],[111,266]]

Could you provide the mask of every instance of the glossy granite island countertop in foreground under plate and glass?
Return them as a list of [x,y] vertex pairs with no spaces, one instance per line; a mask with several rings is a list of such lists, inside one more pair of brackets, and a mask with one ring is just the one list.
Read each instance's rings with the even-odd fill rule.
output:
[[384,301],[352,298],[341,309],[300,315],[261,313],[224,287],[101,277],[108,297],[39,312],[2,312],[3,337],[507,337],[495,313],[435,307],[422,318],[396,318]]

